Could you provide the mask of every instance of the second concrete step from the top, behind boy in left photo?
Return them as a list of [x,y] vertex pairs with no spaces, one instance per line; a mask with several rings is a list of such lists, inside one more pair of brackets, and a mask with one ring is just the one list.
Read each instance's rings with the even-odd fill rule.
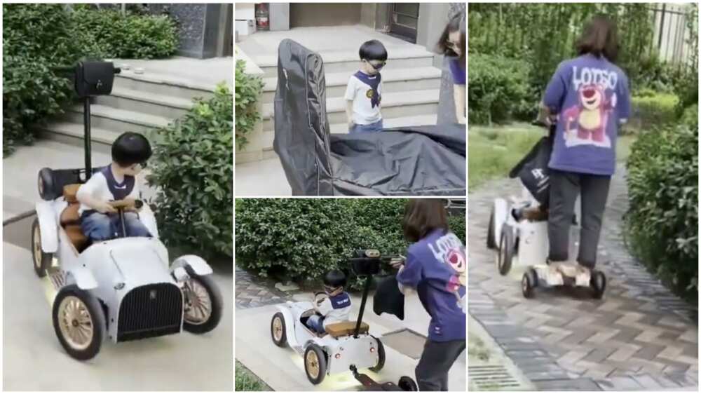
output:
[[115,88],[109,96],[97,96],[95,104],[169,119],[179,118],[192,107],[189,99],[151,93],[144,86],[139,90]]

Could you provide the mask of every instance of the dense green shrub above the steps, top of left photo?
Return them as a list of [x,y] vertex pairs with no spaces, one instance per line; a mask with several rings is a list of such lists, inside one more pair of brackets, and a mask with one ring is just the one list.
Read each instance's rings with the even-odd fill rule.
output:
[[167,15],[140,15],[128,11],[76,5],[74,34],[94,57],[125,59],[163,58],[177,50],[175,21]]

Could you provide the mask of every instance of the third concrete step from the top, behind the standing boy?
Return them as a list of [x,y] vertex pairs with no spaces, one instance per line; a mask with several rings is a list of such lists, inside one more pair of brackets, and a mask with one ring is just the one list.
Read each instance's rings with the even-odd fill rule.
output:
[[[382,117],[391,119],[437,114],[439,94],[439,89],[386,93],[382,95]],[[330,124],[346,123],[346,100],[343,97],[327,98],[326,112]],[[274,130],[272,117],[273,104],[263,104],[263,131]]]

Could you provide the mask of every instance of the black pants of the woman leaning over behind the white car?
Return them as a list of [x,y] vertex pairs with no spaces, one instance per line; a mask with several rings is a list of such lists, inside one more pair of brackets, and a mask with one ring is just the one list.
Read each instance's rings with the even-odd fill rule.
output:
[[419,391],[447,391],[448,371],[465,351],[465,340],[426,341],[421,360],[416,365],[416,384]]

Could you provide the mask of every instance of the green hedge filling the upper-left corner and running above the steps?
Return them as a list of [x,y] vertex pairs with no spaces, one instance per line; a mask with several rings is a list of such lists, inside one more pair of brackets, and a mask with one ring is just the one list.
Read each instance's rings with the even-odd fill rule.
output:
[[31,143],[30,126],[69,104],[71,83],[53,67],[84,57],[165,57],[176,48],[175,23],[165,16],[3,4],[3,154]]

